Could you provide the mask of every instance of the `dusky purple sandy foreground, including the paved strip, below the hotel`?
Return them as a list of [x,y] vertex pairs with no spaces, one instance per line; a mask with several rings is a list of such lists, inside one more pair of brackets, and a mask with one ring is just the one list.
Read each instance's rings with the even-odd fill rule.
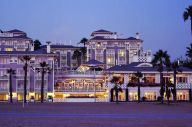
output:
[[192,103],[0,103],[0,127],[192,127]]

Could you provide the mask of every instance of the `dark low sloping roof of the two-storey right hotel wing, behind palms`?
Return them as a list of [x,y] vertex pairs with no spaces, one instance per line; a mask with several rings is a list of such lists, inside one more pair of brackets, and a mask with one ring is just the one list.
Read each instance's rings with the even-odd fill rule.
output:
[[[182,71],[192,72],[192,69],[187,68],[187,67],[180,67],[180,69]],[[157,68],[153,67],[151,63],[141,63],[141,62],[134,62],[134,63],[127,64],[127,65],[115,65],[115,66],[107,69],[107,71],[158,72]],[[164,71],[169,72],[166,69]]]

